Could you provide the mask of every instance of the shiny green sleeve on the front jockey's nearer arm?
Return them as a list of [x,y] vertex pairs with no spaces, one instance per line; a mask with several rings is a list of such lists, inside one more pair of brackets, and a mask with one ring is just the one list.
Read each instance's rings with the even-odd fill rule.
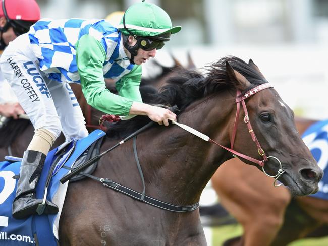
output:
[[[106,53],[101,43],[86,34],[76,43],[75,48],[82,92],[87,103],[105,113],[129,115],[134,98],[126,98],[125,95],[129,94],[125,93],[115,95],[106,89],[102,71]],[[130,77],[127,76],[127,78]],[[121,88],[123,91],[125,91],[124,88],[128,88],[128,85],[124,84]]]

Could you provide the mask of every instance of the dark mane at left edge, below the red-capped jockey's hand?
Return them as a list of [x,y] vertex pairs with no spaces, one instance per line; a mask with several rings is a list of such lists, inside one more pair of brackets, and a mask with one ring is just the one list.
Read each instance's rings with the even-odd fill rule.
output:
[[27,119],[10,119],[0,128],[0,148],[10,146],[31,124]]

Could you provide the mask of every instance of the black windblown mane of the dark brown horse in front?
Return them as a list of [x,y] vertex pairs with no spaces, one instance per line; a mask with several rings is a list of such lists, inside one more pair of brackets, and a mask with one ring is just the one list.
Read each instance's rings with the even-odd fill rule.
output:
[[[251,83],[251,86],[242,93],[257,85],[267,83],[257,71],[242,59],[235,56],[226,56],[216,63],[206,66],[205,75],[194,70],[180,68],[177,73],[167,79],[166,85],[160,88],[159,92],[152,97],[152,100],[146,103],[166,106],[177,105],[180,112],[183,112],[188,105],[197,99],[215,92],[237,89],[235,83],[232,83],[228,77],[227,62]],[[124,138],[149,121],[150,119],[146,116],[137,116],[131,120],[117,122],[110,127],[107,136]]]

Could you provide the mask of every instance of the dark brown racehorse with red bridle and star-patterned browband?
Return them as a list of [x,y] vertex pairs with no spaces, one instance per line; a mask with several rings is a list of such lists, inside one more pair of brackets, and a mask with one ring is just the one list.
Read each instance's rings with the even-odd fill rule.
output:
[[[245,97],[236,97],[238,92],[249,96],[246,102]],[[244,116],[237,114],[240,124],[234,127],[239,105],[236,99],[246,103],[245,121],[251,124],[241,124]],[[232,141],[233,153],[247,164],[264,164],[266,172],[275,173],[281,162],[278,178],[293,194],[318,190],[322,170],[299,137],[292,110],[252,61],[247,64],[233,56],[224,57],[209,67],[206,77],[195,71],[181,72],[170,78],[155,102],[177,105],[180,123],[210,136],[223,148],[176,125],[155,125],[138,135],[135,146],[128,141],[103,156],[94,175],[139,191],[138,160],[147,196],[165,204],[187,206],[190,211],[160,209],[83,179],[68,187],[59,224],[61,245],[206,245],[197,204],[215,170],[232,158],[225,149]],[[116,133],[129,135],[146,119],[138,116],[120,122]],[[250,125],[254,129],[248,129]],[[108,132],[101,152],[121,141],[115,138],[114,130]],[[261,147],[256,147],[254,138]]]

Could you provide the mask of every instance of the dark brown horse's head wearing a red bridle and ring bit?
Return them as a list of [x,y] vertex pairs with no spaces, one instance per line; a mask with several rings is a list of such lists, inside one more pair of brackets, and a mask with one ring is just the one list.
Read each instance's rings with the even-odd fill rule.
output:
[[[249,61],[249,67],[266,81],[252,60]],[[237,120],[241,122],[237,128],[234,148],[241,153],[252,153],[250,156],[253,158],[263,158],[262,170],[278,177],[278,180],[290,188],[292,194],[307,195],[317,192],[318,181],[323,172],[296,130],[294,113],[290,107],[273,88],[266,88],[260,92],[252,89],[256,85],[249,81],[242,71],[239,73],[229,64],[227,64],[227,73],[231,81],[236,84],[236,88],[243,92],[241,96],[244,96],[251,124],[251,129],[247,124],[243,124],[242,122],[247,119],[244,119],[244,113],[240,113]],[[246,144],[246,139],[251,141],[254,138],[249,134],[249,132],[252,134],[252,131],[258,142]],[[257,143],[260,146],[257,146]],[[253,164],[244,158],[242,160]]]

